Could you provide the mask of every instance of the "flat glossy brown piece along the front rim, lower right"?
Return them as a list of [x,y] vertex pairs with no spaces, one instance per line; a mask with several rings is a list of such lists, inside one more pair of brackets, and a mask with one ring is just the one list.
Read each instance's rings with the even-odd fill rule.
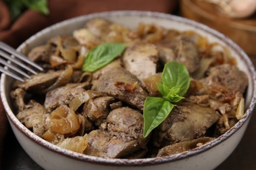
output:
[[209,143],[213,139],[214,138],[212,138],[212,137],[200,137],[198,139],[193,139],[191,141],[184,141],[181,143],[170,144],[170,145],[165,146],[159,150],[158,157],[169,156],[172,154],[178,154],[181,152],[185,152],[185,151],[191,150],[193,148],[196,148],[198,146],[202,146],[205,143]]

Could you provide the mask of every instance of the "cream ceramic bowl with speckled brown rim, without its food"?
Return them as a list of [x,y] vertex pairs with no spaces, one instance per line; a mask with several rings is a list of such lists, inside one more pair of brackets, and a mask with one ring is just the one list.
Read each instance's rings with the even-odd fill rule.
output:
[[48,143],[22,125],[16,118],[11,105],[10,90],[13,79],[9,76],[2,75],[1,98],[3,105],[14,134],[28,155],[44,169],[214,169],[222,163],[242,139],[253,108],[255,107],[255,69],[245,52],[230,39],[205,25],[169,14],[140,11],[103,12],[66,20],[47,27],[43,31],[33,35],[19,46],[18,51],[24,52],[27,48],[43,44],[55,35],[71,34],[74,29],[83,27],[87,20],[97,17],[107,18],[108,20],[131,28],[136,27],[139,22],[145,22],[156,23],[163,27],[179,29],[180,31],[192,30],[207,37],[210,42],[218,42],[224,46],[228,46],[232,56],[238,61],[238,67],[249,78],[249,86],[245,98],[245,115],[234,127],[224,133],[224,135],[187,152],[163,158],[135,160],[97,158],[78,154]]

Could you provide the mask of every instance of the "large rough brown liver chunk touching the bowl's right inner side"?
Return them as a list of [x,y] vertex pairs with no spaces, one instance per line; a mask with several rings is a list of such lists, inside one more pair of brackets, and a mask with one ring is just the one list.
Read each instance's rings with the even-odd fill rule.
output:
[[217,83],[226,86],[231,92],[244,93],[248,79],[245,73],[240,71],[238,67],[223,64],[212,67],[209,70],[207,78],[203,80],[203,83],[209,86],[213,83]]

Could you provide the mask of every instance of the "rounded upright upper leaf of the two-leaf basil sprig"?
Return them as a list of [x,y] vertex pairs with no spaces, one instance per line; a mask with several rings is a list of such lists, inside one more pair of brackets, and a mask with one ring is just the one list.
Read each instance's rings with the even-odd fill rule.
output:
[[184,65],[177,61],[169,61],[163,69],[161,82],[170,89],[179,86],[177,95],[184,95],[189,88],[190,76]]

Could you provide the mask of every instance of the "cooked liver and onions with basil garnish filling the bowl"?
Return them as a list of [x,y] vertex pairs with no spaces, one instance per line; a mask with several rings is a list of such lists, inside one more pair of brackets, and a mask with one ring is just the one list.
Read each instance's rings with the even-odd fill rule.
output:
[[[46,141],[89,156],[177,154],[219,137],[244,115],[247,76],[222,44],[194,31],[154,23],[129,29],[95,18],[28,58],[45,73],[14,82],[18,120]],[[154,105],[146,105],[150,99]]]

